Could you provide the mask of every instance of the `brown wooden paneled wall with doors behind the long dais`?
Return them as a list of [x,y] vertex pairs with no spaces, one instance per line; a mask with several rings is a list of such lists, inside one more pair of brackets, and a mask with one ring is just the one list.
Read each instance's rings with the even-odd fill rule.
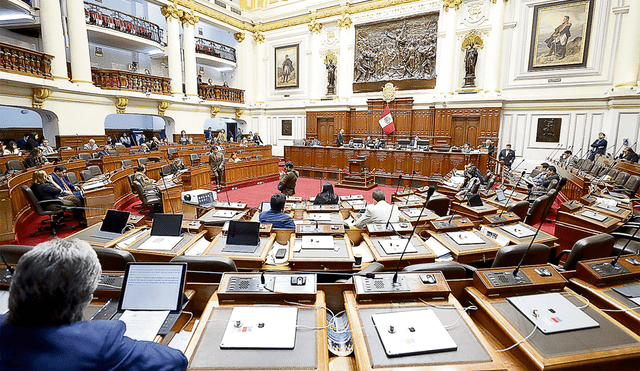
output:
[[397,98],[389,103],[396,131],[385,135],[378,123],[385,105],[382,99],[369,99],[365,111],[307,112],[307,140],[318,137],[323,145],[335,146],[343,128],[345,142],[371,136],[396,143],[418,135],[436,147],[448,148],[466,141],[477,147],[487,139],[498,140],[500,108],[413,109],[413,98]]

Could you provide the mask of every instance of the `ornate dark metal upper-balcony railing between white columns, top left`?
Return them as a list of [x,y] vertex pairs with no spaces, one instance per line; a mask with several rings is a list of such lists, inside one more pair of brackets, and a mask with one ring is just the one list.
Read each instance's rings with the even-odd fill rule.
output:
[[157,24],[144,19],[89,3],[84,3],[84,17],[87,24],[109,28],[163,44],[162,29]]

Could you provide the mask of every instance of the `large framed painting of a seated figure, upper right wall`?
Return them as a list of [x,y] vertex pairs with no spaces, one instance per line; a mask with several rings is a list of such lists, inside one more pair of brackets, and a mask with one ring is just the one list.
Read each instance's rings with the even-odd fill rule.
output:
[[595,0],[565,0],[536,5],[529,71],[587,65]]

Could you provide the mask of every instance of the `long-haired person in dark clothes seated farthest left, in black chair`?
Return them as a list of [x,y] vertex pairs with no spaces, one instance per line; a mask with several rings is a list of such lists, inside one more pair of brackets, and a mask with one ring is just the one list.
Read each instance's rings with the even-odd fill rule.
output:
[[[49,211],[59,211],[62,206],[82,207],[82,201],[70,191],[64,191],[62,187],[53,182],[51,176],[44,170],[37,170],[31,176],[31,190],[38,201],[44,202],[42,207]],[[73,217],[81,227],[87,226],[82,209],[73,209]]]

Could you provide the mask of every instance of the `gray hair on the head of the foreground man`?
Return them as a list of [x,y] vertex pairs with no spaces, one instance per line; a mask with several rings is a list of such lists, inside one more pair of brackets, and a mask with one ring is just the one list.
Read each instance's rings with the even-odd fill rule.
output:
[[54,239],[35,246],[18,261],[6,323],[40,327],[82,320],[101,273],[87,242]]

